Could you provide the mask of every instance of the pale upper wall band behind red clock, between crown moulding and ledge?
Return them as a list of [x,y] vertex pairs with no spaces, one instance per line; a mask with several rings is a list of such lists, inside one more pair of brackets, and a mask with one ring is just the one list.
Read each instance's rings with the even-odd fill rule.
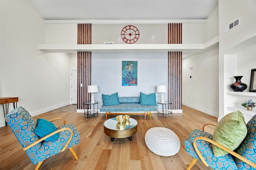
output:
[[[205,43],[216,37],[218,35],[216,34],[216,32],[218,33],[218,8],[214,8],[214,11],[209,24],[182,23],[182,43]],[[129,24],[92,24],[92,44],[103,44],[104,42],[126,44],[121,39],[121,30],[126,25]],[[133,25],[140,31],[140,37],[136,44],[168,43],[168,24]],[[210,29],[207,35],[206,27]],[[77,44],[77,24],[46,24],[46,43]]]

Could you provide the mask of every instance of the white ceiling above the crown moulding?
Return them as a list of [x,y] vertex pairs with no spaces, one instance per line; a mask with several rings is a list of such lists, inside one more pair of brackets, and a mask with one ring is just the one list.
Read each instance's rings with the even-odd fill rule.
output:
[[30,0],[44,20],[206,19],[218,0]]

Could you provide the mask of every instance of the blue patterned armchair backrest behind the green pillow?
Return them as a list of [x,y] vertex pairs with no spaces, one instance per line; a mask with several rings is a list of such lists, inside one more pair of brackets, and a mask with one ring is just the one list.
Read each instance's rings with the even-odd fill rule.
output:
[[[244,138],[244,141],[236,149],[236,153],[240,154],[244,158],[256,162],[256,115],[254,115],[250,121],[246,124],[247,135]],[[240,159],[235,158],[237,167],[239,169],[253,169],[245,162],[242,162]]]

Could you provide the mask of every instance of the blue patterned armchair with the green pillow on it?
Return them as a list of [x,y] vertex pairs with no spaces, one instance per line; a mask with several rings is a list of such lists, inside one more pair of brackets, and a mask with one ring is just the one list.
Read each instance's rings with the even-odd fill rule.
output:
[[[206,124],[209,125],[210,123]],[[213,125],[213,124],[210,124]],[[204,125],[205,127],[205,125]],[[193,157],[187,170],[190,170],[197,160],[214,170],[255,170],[256,169],[256,115],[246,124],[247,135],[234,151],[212,140],[213,135],[195,129],[184,141],[184,147]],[[228,154],[214,156],[212,145],[225,150]]]

